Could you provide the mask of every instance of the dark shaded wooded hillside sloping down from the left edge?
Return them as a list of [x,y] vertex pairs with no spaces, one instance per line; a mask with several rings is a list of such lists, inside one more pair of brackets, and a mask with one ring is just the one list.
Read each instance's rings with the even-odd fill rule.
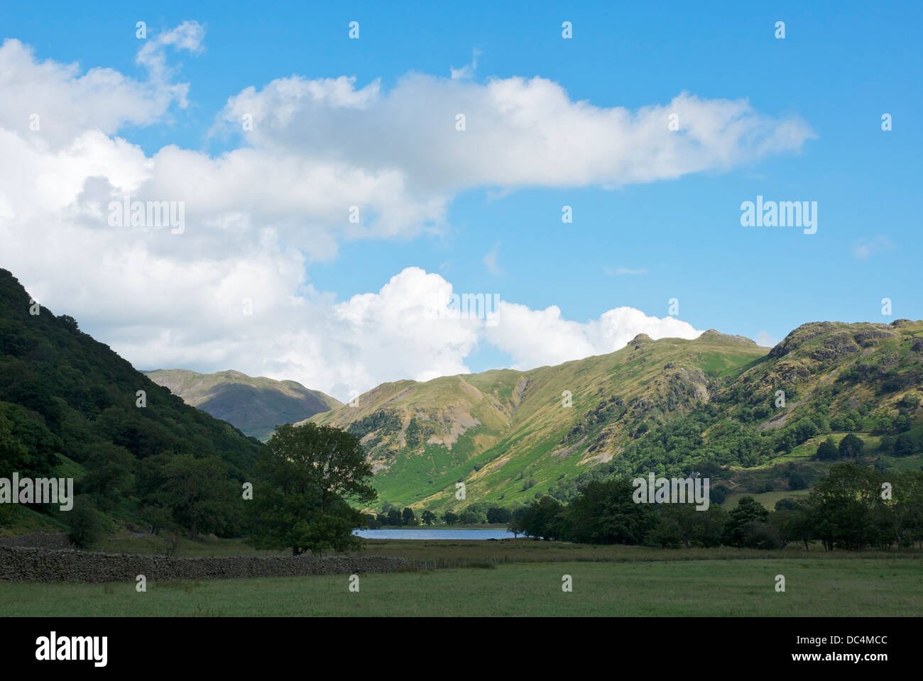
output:
[[[219,492],[231,503],[260,447],[154,383],[73,317],[35,304],[0,269],[0,477],[72,477],[78,502],[85,497],[103,517],[140,522],[157,515],[160,527],[188,527],[178,481],[198,475],[210,509]],[[34,508],[2,505],[0,524],[60,527],[78,517],[75,511],[58,521],[56,509],[42,509],[46,516]],[[208,531],[234,531],[233,519],[212,516]]]

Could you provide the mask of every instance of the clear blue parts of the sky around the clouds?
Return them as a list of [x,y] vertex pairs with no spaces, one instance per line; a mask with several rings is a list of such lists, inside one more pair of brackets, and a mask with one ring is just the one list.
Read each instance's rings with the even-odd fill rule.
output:
[[[251,86],[347,76],[357,90],[379,78],[388,92],[409,72],[448,78],[474,51],[473,83],[538,76],[571,102],[629,110],[668,104],[685,91],[800,119],[813,137],[796,152],[614,187],[464,187],[450,197],[440,233],[343,237],[335,257],[306,264],[306,281],[338,301],[378,292],[417,267],[456,291],[497,292],[533,310],[557,305],[581,323],[619,306],[664,317],[676,297],[678,317],[695,329],[765,332],[776,341],[815,320],[923,317],[920,18],[918,3],[726,3],[707,11],[531,2],[0,7],[2,37],[30,45],[38,61],[110,67],[138,79],[145,74],[136,62],[136,21],[152,34],[186,20],[204,27],[200,54],[168,58],[175,78],[189,83],[188,106],[119,126],[117,135],[147,156],[177,145],[215,157],[246,144],[210,131],[228,98]],[[347,38],[353,20],[359,40]],[[571,40],[561,38],[563,20],[572,22]],[[784,40],[773,37],[779,20]],[[893,130],[881,130],[881,114],[892,115]],[[817,233],[741,227],[740,203],[757,195],[816,201]],[[564,205],[572,224],[560,220]],[[872,246],[868,254],[857,251],[863,244]],[[492,250],[495,268],[484,262]],[[893,300],[893,317],[882,317],[883,297]],[[89,318],[88,330],[105,328]],[[473,371],[504,364],[509,354],[487,343],[466,360]]]

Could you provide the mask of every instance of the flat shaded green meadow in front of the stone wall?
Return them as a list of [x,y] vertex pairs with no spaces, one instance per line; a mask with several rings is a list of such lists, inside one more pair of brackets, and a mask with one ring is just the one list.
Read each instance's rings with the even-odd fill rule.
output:
[[[923,612],[918,560],[694,560],[473,564],[360,577],[134,584],[0,583],[0,612],[54,615],[912,616]],[[483,568],[485,566],[489,568]],[[570,575],[573,591],[561,590]],[[785,575],[786,591],[774,590]]]

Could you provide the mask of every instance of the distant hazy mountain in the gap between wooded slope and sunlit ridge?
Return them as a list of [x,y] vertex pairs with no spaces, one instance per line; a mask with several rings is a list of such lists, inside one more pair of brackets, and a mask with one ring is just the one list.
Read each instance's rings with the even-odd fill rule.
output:
[[277,425],[294,424],[342,407],[339,400],[300,383],[255,378],[239,371],[198,374],[186,369],[159,369],[145,374],[154,383],[170,388],[186,404],[264,441]]

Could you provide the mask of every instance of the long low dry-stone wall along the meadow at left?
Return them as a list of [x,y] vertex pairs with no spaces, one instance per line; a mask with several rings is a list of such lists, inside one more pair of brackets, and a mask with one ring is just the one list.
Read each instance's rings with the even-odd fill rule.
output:
[[380,556],[228,556],[175,558],[0,546],[0,580],[41,582],[241,579],[397,572],[407,559]]

